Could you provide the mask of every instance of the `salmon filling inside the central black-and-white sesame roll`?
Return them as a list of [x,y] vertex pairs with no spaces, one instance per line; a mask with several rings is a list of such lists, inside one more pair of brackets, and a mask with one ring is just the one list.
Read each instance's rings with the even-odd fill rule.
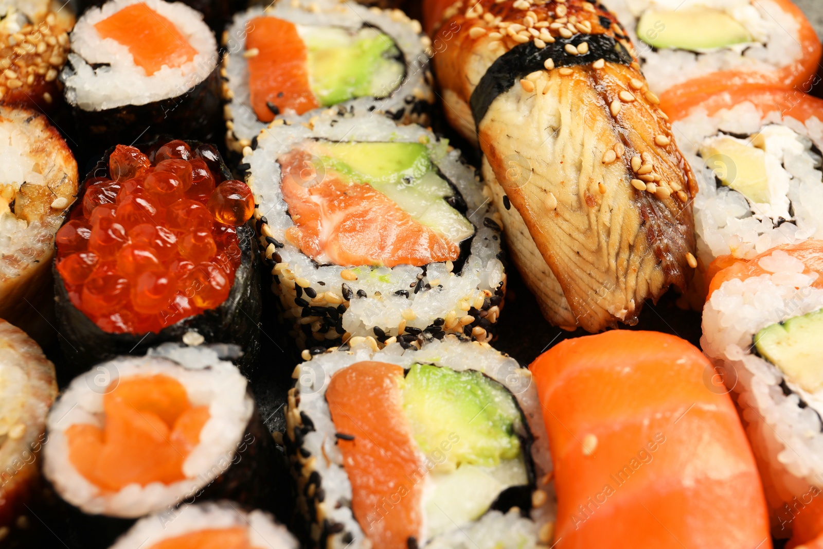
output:
[[286,235],[304,254],[315,259],[325,255],[337,265],[386,267],[420,267],[459,257],[458,244],[416,221],[369,184],[346,183],[331,170],[314,184],[315,176],[307,179],[305,174],[313,165],[306,151],[291,151],[278,161],[283,166],[283,199],[295,223]]

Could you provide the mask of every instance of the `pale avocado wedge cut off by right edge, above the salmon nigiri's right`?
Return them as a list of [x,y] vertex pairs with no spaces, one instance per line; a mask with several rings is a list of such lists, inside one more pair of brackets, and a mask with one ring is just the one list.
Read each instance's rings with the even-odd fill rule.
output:
[[760,356],[808,393],[823,388],[823,310],[772,324],[755,336]]

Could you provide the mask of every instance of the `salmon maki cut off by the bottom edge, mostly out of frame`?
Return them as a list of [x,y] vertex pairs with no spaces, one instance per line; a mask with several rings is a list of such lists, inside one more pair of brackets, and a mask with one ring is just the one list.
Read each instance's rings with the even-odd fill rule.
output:
[[270,514],[246,513],[231,501],[182,505],[140,519],[111,549],[298,549],[297,540]]

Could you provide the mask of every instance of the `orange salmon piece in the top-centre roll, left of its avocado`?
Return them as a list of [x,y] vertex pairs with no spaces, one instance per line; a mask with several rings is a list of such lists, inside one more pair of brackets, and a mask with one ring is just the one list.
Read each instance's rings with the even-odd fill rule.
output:
[[261,122],[274,119],[267,103],[282,112],[297,114],[319,106],[309,87],[308,54],[297,27],[277,17],[256,17],[249,21],[246,51],[257,49],[249,58],[249,95],[254,114]]

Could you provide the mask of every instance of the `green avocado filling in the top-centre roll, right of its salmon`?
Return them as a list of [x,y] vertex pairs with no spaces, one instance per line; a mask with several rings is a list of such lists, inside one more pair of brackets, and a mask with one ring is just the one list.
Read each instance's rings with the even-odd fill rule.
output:
[[308,50],[309,86],[324,107],[356,97],[387,97],[400,86],[406,68],[383,32],[333,26],[299,26],[298,32]]

